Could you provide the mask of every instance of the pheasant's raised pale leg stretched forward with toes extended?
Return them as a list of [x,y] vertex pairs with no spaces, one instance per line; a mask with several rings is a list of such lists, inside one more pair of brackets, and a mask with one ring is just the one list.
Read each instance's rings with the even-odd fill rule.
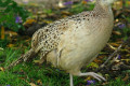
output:
[[79,76],[87,76],[87,75],[91,75],[93,76],[94,78],[99,80],[99,81],[106,81],[103,76],[99,75],[98,73],[94,73],[94,72],[88,72],[88,73],[79,73],[78,74]]

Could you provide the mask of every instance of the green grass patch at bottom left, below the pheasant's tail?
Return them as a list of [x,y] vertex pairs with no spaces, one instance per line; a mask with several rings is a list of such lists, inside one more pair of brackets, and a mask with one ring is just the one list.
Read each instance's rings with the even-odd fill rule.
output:
[[20,64],[11,71],[0,72],[0,85],[11,86],[29,86],[29,83],[38,85],[38,80],[42,82],[42,86],[68,86],[67,74],[58,73],[50,68],[37,67],[31,63]]

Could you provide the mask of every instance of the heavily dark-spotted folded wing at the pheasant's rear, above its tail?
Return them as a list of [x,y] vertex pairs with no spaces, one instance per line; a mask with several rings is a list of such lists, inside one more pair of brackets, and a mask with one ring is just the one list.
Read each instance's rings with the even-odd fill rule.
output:
[[56,48],[60,37],[68,30],[73,20],[60,19],[36,31],[31,39],[31,47],[36,53],[39,51],[50,52]]

